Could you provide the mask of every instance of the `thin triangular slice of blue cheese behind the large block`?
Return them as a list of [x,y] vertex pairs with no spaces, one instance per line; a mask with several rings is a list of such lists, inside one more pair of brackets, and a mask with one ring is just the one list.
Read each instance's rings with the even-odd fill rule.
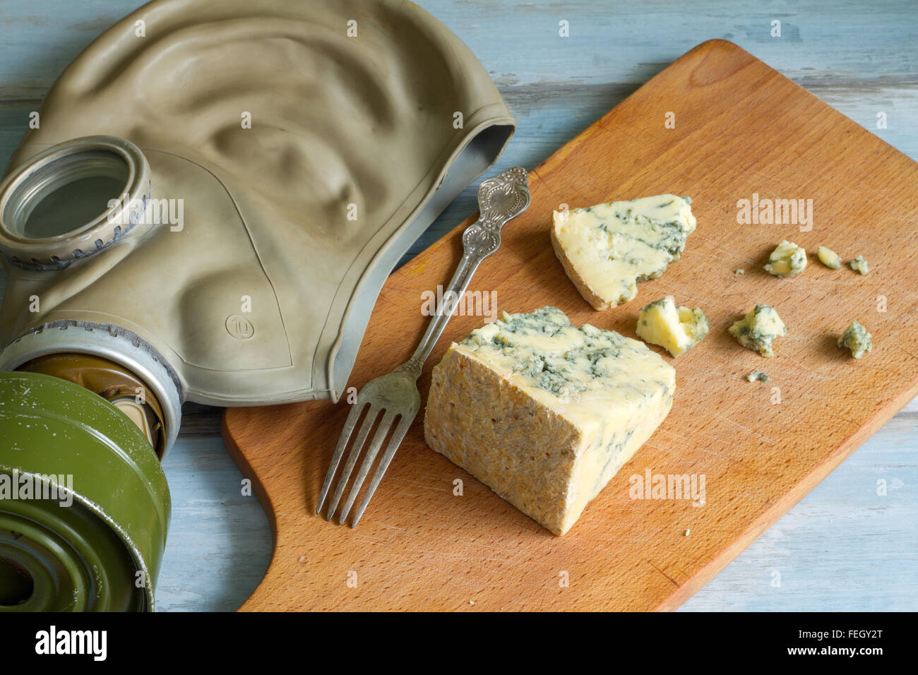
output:
[[552,246],[580,295],[602,310],[633,299],[638,281],[662,275],[695,227],[689,197],[641,197],[554,211]]

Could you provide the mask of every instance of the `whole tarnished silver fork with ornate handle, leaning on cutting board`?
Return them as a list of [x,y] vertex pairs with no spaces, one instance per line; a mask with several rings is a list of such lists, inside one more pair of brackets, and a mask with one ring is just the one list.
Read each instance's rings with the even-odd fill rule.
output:
[[[331,498],[329,512],[326,520],[331,520],[338,503],[347,487],[348,479],[351,478],[353,467],[357,463],[357,457],[366,443],[367,436],[373,428],[374,422],[382,413],[382,421],[376,429],[373,441],[370,443],[364,455],[364,462],[357,471],[357,477],[354,478],[351,491],[348,493],[347,500],[341,508],[339,523],[344,523],[348,512],[351,511],[354,500],[364,484],[367,474],[373,467],[376,455],[393,425],[395,430],[389,443],[386,445],[386,452],[383,453],[379,466],[366,489],[363,501],[354,514],[352,527],[356,526],[360,517],[364,514],[366,505],[373,497],[379,481],[386,473],[389,462],[395,456],[398,445],[401,444],[405,434],[408,433],[409,426],[420,411],[420,392],[418,391],[418,378],[420,377],[421,368],[427,357],[431,355],[433,345],[437,343],[446,323],[450,321],[453,310],[459,303],[468,287],[472,276],[475,274],[478,265],[491,253],[498,250],[500,246],[500,229],[509,219],[516,218],[526,208],[529,207],[529,179],[526,170],[521,166],[516,166],[493,178],[488,178],[478,187],[478,210],[479,216],[476,222],[465,228],[462,235],[463,257],[462,262],[456,268],[453,274],[453,280],[449,288],[443,293],[443,302],[440,312],[431,319],[427,332],[420,339],[420,344],[411,358],[401,366],[398,366],[391,373],[381,377],[375,377],[364,385],[364,388],[357,394],[357,401],[353,404],[351,412],[348,414],[347,422],[344,422],[344,429],[341,430],[341,437],[338,439],[338,445],[335,446],[335,454],[331,457],[331,466],[329,472],[325,475],[325,482],[322,484],[322,491],[319,494],[319,506],[316,508],[317,513],[322,512],[322,506],[329,496],[331,481],[338,471],[338,465],[341,464],[341,456],[344,455],[344,448],[347,447],[348,441],[353,435],[354,427],[360,419],[361,413],[367,406],[364,422],[361,424],[360,431],[354,439],[351,452],[348,454],[344,468],[341,470],[341,477],[338,479],[338,485],[335,488],[334,495]],[[396,420],[398,422],[396,423]]]

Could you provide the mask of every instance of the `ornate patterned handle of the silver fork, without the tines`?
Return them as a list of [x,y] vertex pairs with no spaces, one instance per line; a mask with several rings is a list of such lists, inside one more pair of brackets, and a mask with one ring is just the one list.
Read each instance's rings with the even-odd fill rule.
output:
[[500,229],[508,220],[519,216],[529,208],[529,179],[521,166],[498,174],[484,181],[478,187],[478,219],[465,228],[462,235],[462,262],[456,268],[449,287],[443,292],[442,307],[431,319],[427,331],[420,339],[418,349],[401,369],[409,371],[415,378],[433,351],[453,316],[453,311],[465,293],[478,265],[500,246]]

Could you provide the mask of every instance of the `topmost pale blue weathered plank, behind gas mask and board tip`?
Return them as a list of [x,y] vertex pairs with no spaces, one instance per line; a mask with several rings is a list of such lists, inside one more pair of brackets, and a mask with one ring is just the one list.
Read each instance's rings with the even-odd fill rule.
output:
[[[792,79],[857,84],[918,75],[910,0],[419,4],[465,40],[506,86],[642,84],[711,38],[736,42]],[[0,8],[0,98],[43,96],[73,56],[139,5],[137,0],[6,3]],[[771,37],[776,19],[779,38]],[[559,37],[562,20],[569,22],[568,38]]]

